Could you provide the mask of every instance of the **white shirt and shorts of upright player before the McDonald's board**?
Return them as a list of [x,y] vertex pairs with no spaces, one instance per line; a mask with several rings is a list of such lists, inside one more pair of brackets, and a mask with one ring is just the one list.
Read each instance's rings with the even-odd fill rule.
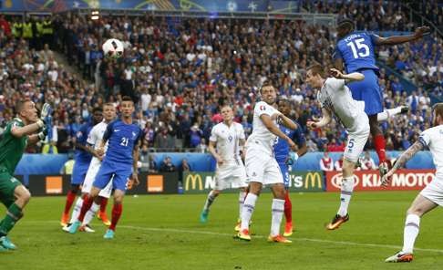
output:
[[215,171],[215,190],[246,187],[246,171],[240,157],[240,140],[244,140],[241,124],[232,122],[231,126],[221,122],[211,130],[210,140],[215,142],[217,153],[223,163]]

